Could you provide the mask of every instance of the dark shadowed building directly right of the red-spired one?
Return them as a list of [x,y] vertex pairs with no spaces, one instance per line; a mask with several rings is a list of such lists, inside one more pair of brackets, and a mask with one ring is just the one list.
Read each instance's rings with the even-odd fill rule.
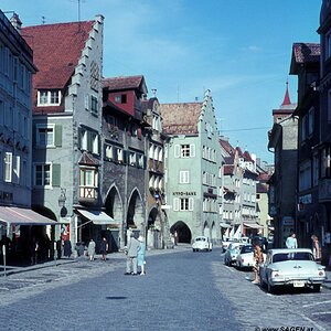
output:
[[305,247],[311,246],[311,235],[321,237],[322,210],[319,204],[320,45],[295,43],[290,74],[298,76],[298,182],[296,232]]

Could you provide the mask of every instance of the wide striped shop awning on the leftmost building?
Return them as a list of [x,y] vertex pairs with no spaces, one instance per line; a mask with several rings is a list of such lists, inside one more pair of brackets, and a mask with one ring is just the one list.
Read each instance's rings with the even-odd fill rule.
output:
[[17,206],[0,206],[0,222],[9,225],[55,225],[58,224],[49,217],[29,209]]

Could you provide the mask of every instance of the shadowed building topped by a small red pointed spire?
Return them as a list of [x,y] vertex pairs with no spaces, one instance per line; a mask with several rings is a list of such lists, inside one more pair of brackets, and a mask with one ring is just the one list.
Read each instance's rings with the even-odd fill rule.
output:
[[[284,247],[295,228],[297,191],[298,119],[286,88],[279,109],[273,110],[274,126],[268,132],[268,150],[274,152],[275,172],[269,183],[269,216],[274,218],[275,247]],[[291,164],[291,167],[288,167]]]

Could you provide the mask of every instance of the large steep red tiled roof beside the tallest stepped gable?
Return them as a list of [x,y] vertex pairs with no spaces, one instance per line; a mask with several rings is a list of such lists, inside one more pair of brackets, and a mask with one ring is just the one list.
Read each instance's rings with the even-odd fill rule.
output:
[[[33,105],[36,89],[63,89],[70,81],[94,21],[44,24],[22,29],[22,36],[33,50],[33,62],[39,72],[33,75]],[[45,107],[52,113],[58,107]]]

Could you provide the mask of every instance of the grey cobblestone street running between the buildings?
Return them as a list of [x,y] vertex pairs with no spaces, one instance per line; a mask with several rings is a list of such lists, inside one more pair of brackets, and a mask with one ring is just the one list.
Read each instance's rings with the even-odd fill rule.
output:
[[1,277],[0,330],[328,330],[331,323],[329,288],[269,295],[250,282],[252,273],[226,267],[220,249],[149,252],[146,276],[124,276],[125,255],[108,257]]

